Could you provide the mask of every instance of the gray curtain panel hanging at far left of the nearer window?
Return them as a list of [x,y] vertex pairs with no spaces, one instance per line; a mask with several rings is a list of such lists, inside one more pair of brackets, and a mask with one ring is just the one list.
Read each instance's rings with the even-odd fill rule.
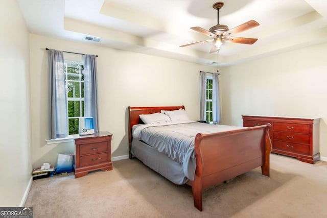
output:
[[68,136],[68,114],[63,53],[49,49],[50,75],[50,136],[52,139]]

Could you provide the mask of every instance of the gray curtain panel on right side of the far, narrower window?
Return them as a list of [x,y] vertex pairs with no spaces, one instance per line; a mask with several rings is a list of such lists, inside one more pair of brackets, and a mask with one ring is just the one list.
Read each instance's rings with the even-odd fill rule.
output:
[[221,123],[219,79],[216,73],[213,74],[213,123]]

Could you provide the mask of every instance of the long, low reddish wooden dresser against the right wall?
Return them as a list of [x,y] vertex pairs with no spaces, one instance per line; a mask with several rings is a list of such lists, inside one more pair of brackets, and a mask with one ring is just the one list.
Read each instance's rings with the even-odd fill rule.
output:
[[243,126],[253,127],[270,123],[272,152],[315,163],[320,160],[320,118],[242,115]]

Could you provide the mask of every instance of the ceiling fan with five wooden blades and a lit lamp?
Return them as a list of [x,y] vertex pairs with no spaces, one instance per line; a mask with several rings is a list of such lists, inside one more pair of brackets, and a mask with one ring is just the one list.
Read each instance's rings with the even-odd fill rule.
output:
[[249,20],[240,26],[237,26],[233,29],[228,29],[226,25],[219,24],[219,10],[224,6],[223,2],[217,2],[213,5],[213,8],[217,10],[217,25],[213,26],[209,29],[209,31],[201,28],[201,27],[191,27],[192,30],[197,31],[201,34],[204,34],[209,37],[213,37],[212,39],[207,39],[204,41],[194,42],[190,44],[180,45],[180,47],[185,47],[189,45],[195,45],[205,42],[214,42],[210,53],[218,52],[220,50],[221,45],[224,41],[233,42],[233,43],[241,43],[241,44],[253,44],[256,42],[255,38],[244,38],[244,37],[235,37],[232,34],[241,33],[246,30],[252,29],[254,27],[258,27],[259,23],[255,20]]

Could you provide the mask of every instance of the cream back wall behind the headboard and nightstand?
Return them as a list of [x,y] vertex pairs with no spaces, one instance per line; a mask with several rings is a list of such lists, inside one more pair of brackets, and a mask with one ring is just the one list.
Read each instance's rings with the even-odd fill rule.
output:
[[30,34],[33,166],[56,164],[59,153],[74,152],[73,143],[49,139],[48,53],[45,48],[95,54],[98,65],[99,125],[113,133],[112,157],[128,154],[127,107],[184,105],[199,119],[199,71],[216,68],[125,52],[96,43],[65,41]]

